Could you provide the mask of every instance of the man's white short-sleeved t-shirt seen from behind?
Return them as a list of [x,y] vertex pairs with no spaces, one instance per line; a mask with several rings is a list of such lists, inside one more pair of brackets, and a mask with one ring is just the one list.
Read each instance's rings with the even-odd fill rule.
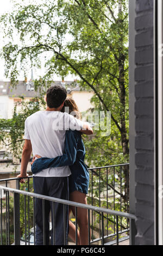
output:
[[[25,121],[24,139],[30,139],[33,155],[53,158],[64,154],[65,134],[69,128],[81,130],[83,121],[59,111],[38,111]],[[33,176],[65,177],[71,175],[68,166],[47,168]]]

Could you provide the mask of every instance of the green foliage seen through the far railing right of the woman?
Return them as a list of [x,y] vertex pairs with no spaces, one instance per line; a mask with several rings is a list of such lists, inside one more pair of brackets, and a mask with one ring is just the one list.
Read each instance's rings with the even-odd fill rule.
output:
[[[107,170],[108,169],[108,170]],[[108,172],[108,174],[106,173]],[[114,175],[115,174],[115,175]],[[107,182],[108,178],[108,182]],[[114,179],[115,178],[115,179]],[[89,205],[112,209],[115,211],[128,212],[129,202],[127,204],[126,194],[126,175],[124,167],[113,167],[95,169],[90,172],[89,193],[87,195],[87,203]],[[108,185],[108,187],[107,187]],[[115,187],[115,192],[114,188]],[[102,216],[98,212],[93,211],[93,230],[99,230]],[[92,220],[92,218],[91,218]],[[119,231],[128,228],[128,220],[119,218]],[[116,230],[116,217],[114,215],[104,214],[105,232],[112,234]]]

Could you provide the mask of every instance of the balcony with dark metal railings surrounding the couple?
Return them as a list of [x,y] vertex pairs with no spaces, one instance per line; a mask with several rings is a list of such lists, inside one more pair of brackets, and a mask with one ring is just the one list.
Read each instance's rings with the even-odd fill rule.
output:
[[[42,200],[44,245],[46,200],[52,202],[53,209],[55,203],[62,204],[64,209],[65,205],[74,206],[76,209],[75,216],[70,216],[76,225],[76,241],[69,240],[68,245],[78,244],[79,208],[87,209],[88,212],[91,230],[88,234],[89,245],[129,245],[135,220],[135,216],[129,214],[129,164],[89,168],[89,172],[87,205],[33,193],[32,176],[29,176],[23,185],[17,178],[0,180],[1,245],[21,245],[22,241],[24,245],[35,245],[35,198]],[[65,223],[65,211],[63,222]],[[51,225],[54,227],[52,237],[55,245],[55,214]],[[66,245],[66,235],[64,241]]]

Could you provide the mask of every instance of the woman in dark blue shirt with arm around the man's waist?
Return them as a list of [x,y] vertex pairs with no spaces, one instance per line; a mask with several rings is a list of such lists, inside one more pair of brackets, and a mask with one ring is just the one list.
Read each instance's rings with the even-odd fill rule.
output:
[[[74,100],[67,98],[64,103],[62,112],[65,107],[69,107],[69,113],[76,114],[80,118],[79,110]],[[66,131],[65,153],[53,159],[35,155],[32,161],[32,172],[37,173],[48,167],[70,166],[72,175],[69,179],[70,201],[87,204],[86,194],[89,187],[89,171],[84,163],[85,147],[82,140],[82,133],[79,131]],[[37,158],[37,159],[36,159]],[[70,206],[70,212],[75,216],[75,209]],[[88,216],[87,210],[78,208],[77,221],[79,225],[78,245],[88,245]],[[76,241],[76,227],[69,221],[69,236]]]

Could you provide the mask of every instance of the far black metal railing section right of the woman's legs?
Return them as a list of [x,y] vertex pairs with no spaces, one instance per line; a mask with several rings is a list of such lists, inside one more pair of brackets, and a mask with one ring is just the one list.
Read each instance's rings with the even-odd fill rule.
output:
[[[89,204],[129,213],[129,163],[89,168],[89,172],[90,186],[87,196]],[[109,218],[107,218],[108,220]],[[101,228],[100,223],[99,221],[99,229]],[[115,216],[112,223],[115,233]],[[108,229],[109,225],[107,225],[107,235],[109,235]],[[126,229],[129,229],[129,222],[127,221],[124,228],[121,217],[121,232]]]

